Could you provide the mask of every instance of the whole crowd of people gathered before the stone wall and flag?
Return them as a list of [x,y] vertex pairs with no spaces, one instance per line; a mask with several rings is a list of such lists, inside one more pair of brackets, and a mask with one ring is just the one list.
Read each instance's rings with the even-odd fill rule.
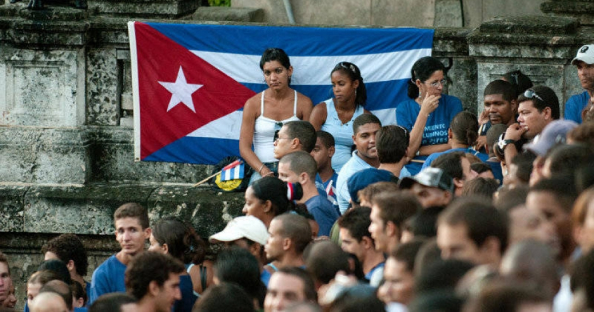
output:
[[[337,64],[313,107],[268,49],[268,89],[244,109],[245,216],[206,242],[124,204],[121,250],[90,282],[80,238],[43,246],[25,311],[594,311],[594,45],[571,64],[584,92],[564,119],[520,71],[485,87],[477,116],[421,58],[382,125],[357,65]],[[0,253],[0,311],[17,304],[10,268]]]

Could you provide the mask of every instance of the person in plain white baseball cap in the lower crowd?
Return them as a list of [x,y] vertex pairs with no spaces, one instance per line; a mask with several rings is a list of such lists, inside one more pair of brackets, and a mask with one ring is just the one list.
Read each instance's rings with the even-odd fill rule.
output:
[[271,272],[263,269],[264,264],[268,263],[266,253],[264,253],[264,245],[266,245],[268,236],[266,225],[260,219],[254,216],[241,216],[230,220],[223,231],[212,235],[208,240],[223,242],[226,247],[238,246],[249,250],[260,264],[260,279],[265,285],[268,285]]

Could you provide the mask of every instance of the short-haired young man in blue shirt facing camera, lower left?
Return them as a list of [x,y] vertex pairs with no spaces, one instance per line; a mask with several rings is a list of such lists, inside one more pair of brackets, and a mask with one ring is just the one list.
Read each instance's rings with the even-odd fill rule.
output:
[[100,295],[126,291],[126,267],[134,256],[144,251],[144,244],[150,238],[149,214],[140,204],[123,204],[113,213],[113,219],[115,238],[122,250],[105,260],[93,272],[88,305],[93,304]]

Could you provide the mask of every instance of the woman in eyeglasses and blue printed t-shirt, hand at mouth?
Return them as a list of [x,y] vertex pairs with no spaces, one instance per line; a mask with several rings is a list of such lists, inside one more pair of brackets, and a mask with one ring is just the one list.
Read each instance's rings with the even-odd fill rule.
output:
[[408,96],[396,109],[396,121],[410,131],[406,165],[410,174],[417,174],[427,156],[450,149],[447,130],[451,119],[462,112],[460,99],[441,94],[445,86],[445,67],[431,56],[418,59],[412,67]]

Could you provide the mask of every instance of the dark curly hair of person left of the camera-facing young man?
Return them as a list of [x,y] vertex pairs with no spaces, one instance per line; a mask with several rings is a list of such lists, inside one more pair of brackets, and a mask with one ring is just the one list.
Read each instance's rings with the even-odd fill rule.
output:
[[74,261],[78,275],[87,275],[87,269],[89,268],[87,251],[84,249],[83,241],[77,235],[62,234],[50,239],[41,248],[43,254],[48,251],[58,256],[58,259],[64,263],[68,263],[70,260]]

